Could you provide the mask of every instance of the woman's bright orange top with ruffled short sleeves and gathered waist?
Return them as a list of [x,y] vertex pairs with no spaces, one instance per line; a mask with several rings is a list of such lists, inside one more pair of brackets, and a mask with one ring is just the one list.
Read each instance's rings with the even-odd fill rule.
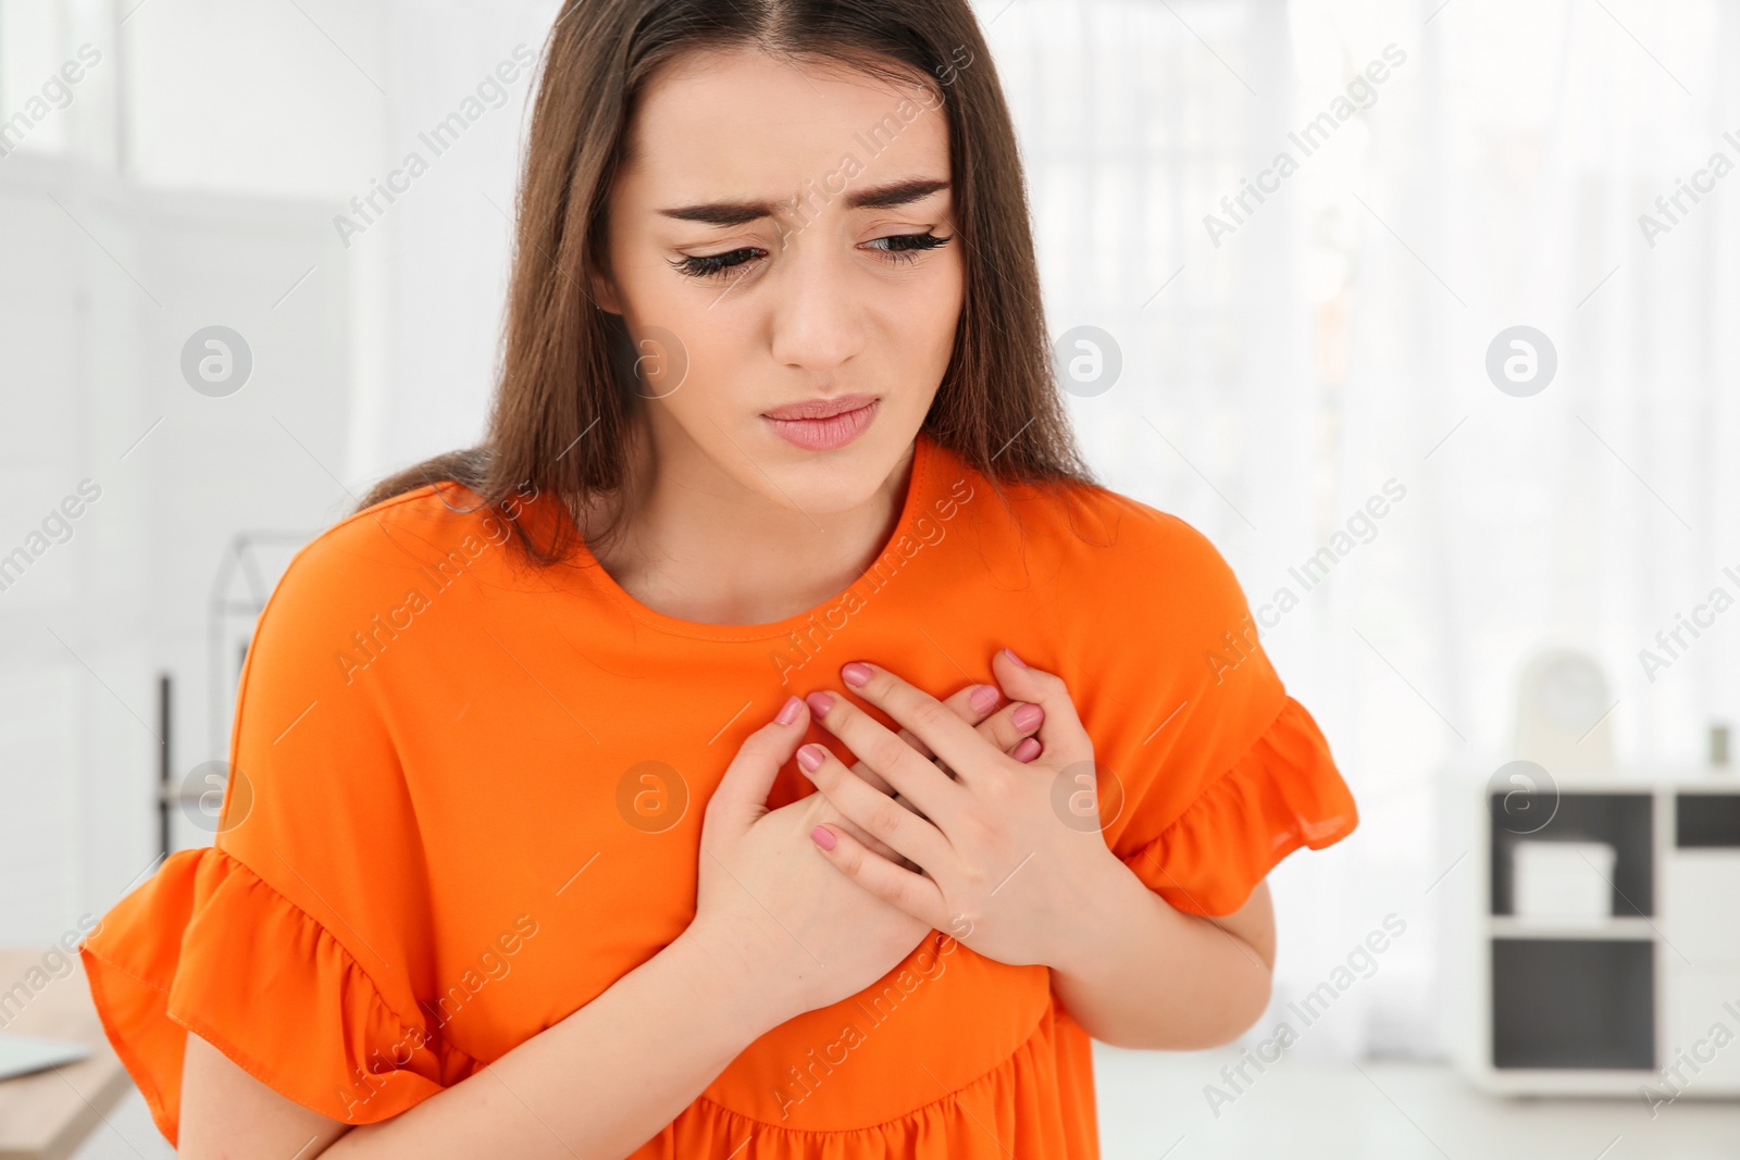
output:
[[[157,1127],[176,1143],[188,1031],[372,1123],[592,1002],[694,917],[703,807],[743,737],[792,692],[842,689],[851,659],[940,696],[990,682],[1002,645],[1060,673],[1107,843],[1181,911],[1230,913],[1291,850],[1347,837],[1352,795],[1220,553],[1133,499],[1072,494],[1004,504],[920,435],[875,563],[757,626],[652,612],[583,548],[534,569],[454,485],[322,534],[261,614],[214,845],[171,856],[82,944]],[[532,497],[515,518],[555,511]],[[786,767],[769,803],[813,791]],[[753,1042],[635,1151],[703,1155],[1096,1157],[1089,1040],[1044,967],[931,932]]]

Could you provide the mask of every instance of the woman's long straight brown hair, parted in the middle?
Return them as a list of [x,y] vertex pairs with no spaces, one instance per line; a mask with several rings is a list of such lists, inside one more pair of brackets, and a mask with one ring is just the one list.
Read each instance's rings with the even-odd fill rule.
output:
[[[619,497],[633,348],[585,290],[604,270],[611,183],[647,78],[682,52],[740,45],[917,73],[941,94],[966,303],[922,430],[999,489],[1091,483],[1053,374],[1014,127],[967,0],[567,0],[536,82],[489,433],[381,480],[364,508],[442,480],[498,510],[538,492],[578,511]],[[522,544],[553,562],[578,534],[564,518],[550,543],[522,529]]]

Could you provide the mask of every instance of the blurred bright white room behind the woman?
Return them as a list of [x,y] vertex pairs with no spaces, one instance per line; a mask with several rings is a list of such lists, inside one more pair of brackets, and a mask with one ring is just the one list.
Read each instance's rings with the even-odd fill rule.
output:
[[[171,1155],[70,948],[211,842],[289,555],[482,433],[555,7],[0,0],[0,1031],[94,1043],[0,1157]],[[976,9],[1089,463],[1361,810],[1105,1155],[1740,1157],[1740,3]]]

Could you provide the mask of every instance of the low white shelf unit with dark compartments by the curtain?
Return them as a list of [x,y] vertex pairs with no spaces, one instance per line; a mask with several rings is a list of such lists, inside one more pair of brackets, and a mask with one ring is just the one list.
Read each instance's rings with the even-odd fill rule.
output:
[[[1507,1096],[1740,1097],[1740,777],[1557,776],[1510,814],[1488,777],[1448,774],[1439,814],[1458,1066]],[[1613,917],[1510,913],[1519,840],[1615,845]]]

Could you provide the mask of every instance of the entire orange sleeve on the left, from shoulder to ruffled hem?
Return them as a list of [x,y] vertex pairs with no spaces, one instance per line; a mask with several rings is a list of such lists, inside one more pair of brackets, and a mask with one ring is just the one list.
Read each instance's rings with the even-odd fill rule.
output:
[[80,946],[172,1144],[188,1031],[348,1123],[477,1066],[418,998],[435,990],[423,842],[376,668],[390,640],[369,652],[358,631],[404,600],[397,574],[364,567],[379,541],[378,522],[351,520],[291,563],[249,647],[214,845],[165,859]]

